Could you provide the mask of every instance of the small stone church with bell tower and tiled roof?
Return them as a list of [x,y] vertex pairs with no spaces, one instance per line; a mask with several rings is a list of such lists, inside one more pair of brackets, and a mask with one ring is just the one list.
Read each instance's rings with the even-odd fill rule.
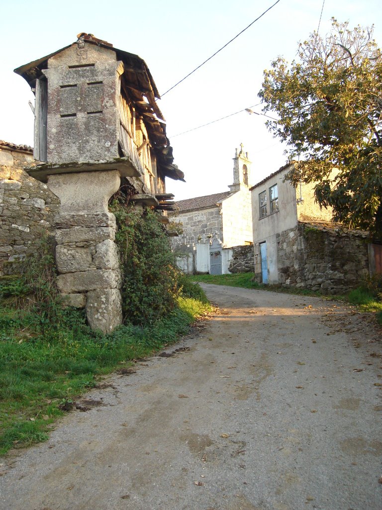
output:
[[[251,193],[248,184],[251,161],[242,144],[240,149],[236,149],[233,162],[230,191],[175,202],[177,213],[172,214],[171,219],[182,223],[183,234],[173,238],[173,248],[176,252],[197,252],[193,271],[211,272],[211,263],[219,258],[216,253],[222,248],[252,245]],[[218,274],[228,272],[231,254],[222,252],[221,268],[216,269]],[[192,271],[187,267],[187,272]]]

